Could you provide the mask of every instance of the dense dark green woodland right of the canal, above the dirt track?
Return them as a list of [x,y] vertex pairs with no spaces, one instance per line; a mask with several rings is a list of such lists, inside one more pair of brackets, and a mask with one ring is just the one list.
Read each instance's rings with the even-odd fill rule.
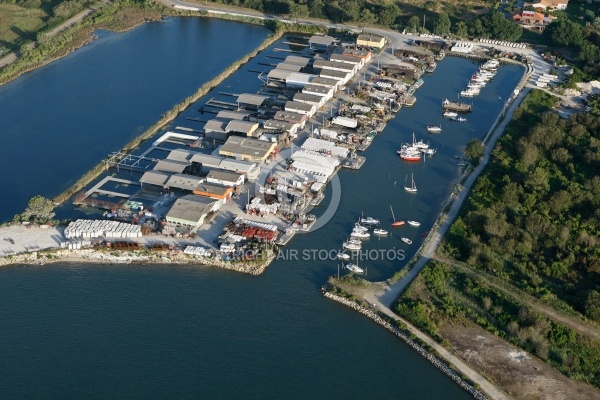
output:
[[600,117],[554,102],[534,91],[515,110],[443,251],[600,322]]

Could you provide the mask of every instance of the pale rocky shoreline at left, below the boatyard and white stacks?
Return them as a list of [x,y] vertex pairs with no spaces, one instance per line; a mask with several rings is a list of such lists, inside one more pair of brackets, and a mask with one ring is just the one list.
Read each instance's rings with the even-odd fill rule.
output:
[[45,265],[50,263],[82,264],[186,264],[224,268],[249,275],[260,275],[275,259],[269,252],[259,260],[222,260],[219,257],[195,257],[181,251],[60,249],[32,251],[0,257],[0,266]]

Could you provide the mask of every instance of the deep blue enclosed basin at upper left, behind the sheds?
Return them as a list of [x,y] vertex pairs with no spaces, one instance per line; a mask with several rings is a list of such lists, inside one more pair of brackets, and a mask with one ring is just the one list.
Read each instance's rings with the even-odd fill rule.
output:
[[0,221],[36,194],[67,189],[268,33],[196,18],[100,32],[90,45],[0,86]]

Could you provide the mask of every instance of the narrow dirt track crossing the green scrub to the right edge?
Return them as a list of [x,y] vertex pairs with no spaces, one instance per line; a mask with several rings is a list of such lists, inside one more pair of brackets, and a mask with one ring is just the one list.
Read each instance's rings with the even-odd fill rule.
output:
[[517,290],[516,288],[511,289],[502,284],[494,282],[494,280],[491,279],[486,272],[479,271],[479,270],[476,270],[473,268],[467,268],[467,267],[461,265],[460,263],[454,262],[453,260],[450,260],[450,259],[447,259],[447,258],[444,258],[441,256],[436,256],[435,259],[437,261],[443,262],[444,264],[447,264],[456,269],[459,269],[463,272],[475,275],[478,278],[483,279],[488,285],[494,287],[495,289],[498,289],[502,293],[539,311],[542,314],[546,314],[547,316],[549,316],[550,318],[552,318],[556,321],[561,322],[562,324],[564,324],[564,325],[570,327],[571,329],[575,330],[576,332],[578,332],[580,335],[586,336],[592,340],[600,342],[600,331],[598,331],[598,329],[596,329],[593,326],[590,326],[590,325],[586,324],[585,322],[578,320],[574,317],[570,317],[568,315],[561,314],[561,313],[557,312],[555,309],[553,309],[552,307],[541,304],[539,301],[537,301],[535,298],[529,296],[528,294],[520,293],[520,291]]

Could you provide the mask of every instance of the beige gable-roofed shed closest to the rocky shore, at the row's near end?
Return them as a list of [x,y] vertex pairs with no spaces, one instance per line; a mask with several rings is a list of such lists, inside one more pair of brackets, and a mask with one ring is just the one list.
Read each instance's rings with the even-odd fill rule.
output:
[[205,196],[189,194],[175,200],[167,213],[168,223],[196,230],[211,212],[219,210],[221,202]]

